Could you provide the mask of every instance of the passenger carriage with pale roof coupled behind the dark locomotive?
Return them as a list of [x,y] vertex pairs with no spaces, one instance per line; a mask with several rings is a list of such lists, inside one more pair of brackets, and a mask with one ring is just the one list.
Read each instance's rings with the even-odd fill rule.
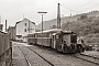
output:
[[35,32],[34,34],[29,34],[28,35],[28,43],[51,46],[52,35],[54,33],[59,32],[59,31],[62,31],[62,30],[54,29],[54,30],[43,31],[43,34],[42,34],[42,32]]

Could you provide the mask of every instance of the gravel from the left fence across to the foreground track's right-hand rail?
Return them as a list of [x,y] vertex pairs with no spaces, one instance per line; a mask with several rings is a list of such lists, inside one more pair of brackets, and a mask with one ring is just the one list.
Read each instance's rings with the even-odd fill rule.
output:
[[[35,53],[23,46],[22,44],[18,44],[20,48],[26,54],[26,57],[31,64],[31,66],[51,66],[43,58],[37,56]],[[23,53],[18,47],[16,43],[13,44],[13,55],[12,55],[12,66],[28,66],[26,61],[23,56]]]

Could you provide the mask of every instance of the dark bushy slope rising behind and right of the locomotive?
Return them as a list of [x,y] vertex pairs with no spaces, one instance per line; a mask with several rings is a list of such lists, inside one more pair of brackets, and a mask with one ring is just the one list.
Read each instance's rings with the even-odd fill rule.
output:
[[84,20],[68,22],[62,25],[63,30],[72,30],[78,36],[84,36],[87,43],[99,43],[99,16],[89,16]]

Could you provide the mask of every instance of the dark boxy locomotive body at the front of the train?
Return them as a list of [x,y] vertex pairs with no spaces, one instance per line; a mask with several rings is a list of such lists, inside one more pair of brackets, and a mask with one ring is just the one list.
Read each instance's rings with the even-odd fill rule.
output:
[[63,53],[75,53],[77,35],[70,31],[64,31],[56,34],[56,50]]

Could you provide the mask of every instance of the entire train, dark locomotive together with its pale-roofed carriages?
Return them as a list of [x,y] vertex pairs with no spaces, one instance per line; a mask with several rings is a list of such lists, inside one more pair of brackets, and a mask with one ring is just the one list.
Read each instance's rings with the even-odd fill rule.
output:
[[28,43],[48,46],[63,53],[84,52],[85,50],[82,44],[77,44],[76,33],[57,29],[29,34]]

